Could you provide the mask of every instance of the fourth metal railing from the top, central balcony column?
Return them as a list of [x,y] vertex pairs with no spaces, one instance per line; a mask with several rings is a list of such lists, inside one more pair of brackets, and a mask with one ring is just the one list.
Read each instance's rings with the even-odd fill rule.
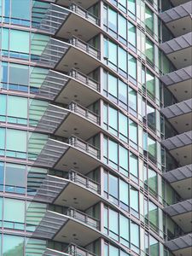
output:
[[96,113],[90,111],[88,108],[84,108],[76,102],[71,102],[68,105],[68,109],[73,111],[74,113],[79,113],[84,118],[90,119],[90,121],[96,123],[97,125],[100,125],[99,116]]

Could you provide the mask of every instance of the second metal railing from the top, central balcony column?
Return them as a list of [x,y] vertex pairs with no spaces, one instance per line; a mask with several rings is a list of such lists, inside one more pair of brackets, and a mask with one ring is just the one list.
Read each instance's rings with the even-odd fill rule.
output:
[[73,38],[69,39],[69,44],[72,44],[76,47],[78,47],[79,49],[83,49],[84,51],[86,51],[88,54],[94,56],[97,59],[101,59],[101,52],[99,49],[96,49],[95,47],[93,47],[90,44],[87,44],[86,42],[84,42],[83,40],[76,38],[73,36]]

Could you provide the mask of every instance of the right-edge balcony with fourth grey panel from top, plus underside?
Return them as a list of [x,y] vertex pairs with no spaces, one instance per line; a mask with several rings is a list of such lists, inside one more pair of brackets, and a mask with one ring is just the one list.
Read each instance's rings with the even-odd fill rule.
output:
[[169,119],[178,133],[192,130],[192,99],[163,108],[161,113]]

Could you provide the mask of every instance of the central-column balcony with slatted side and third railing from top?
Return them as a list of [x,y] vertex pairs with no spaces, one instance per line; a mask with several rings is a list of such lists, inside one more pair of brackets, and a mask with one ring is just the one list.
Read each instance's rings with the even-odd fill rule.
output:
[[[38,78],[36,71],[31,73],[31,79]],[[84,73],[72,69],[69,73],[59,73],[49,69],[36,96],[43,96],[52,102],[68,105],[77,101],[82,106],[90,106],[100,99],[100,84]]]

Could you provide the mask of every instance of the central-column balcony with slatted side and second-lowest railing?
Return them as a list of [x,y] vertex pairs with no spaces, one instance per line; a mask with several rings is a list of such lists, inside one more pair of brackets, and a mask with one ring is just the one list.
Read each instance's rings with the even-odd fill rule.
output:
[[84,247],[102,235],[98,219],[74,208],[67,208],[64,214],[46,211],[32,236],[66,243],[76,242]]

